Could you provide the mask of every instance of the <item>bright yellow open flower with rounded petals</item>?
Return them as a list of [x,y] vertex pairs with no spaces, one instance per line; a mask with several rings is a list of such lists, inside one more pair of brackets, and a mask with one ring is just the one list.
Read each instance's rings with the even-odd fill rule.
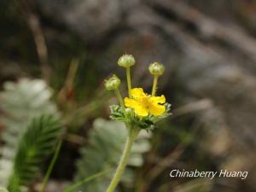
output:
[[125,97],[125,106],[133,108],[134,112],[140,116],[146,117],[148,113],[159,116],[165,113],[166,107],[165,96],[149,96],[144,93],[142,88],[134,88],[131,90],[131,98]]

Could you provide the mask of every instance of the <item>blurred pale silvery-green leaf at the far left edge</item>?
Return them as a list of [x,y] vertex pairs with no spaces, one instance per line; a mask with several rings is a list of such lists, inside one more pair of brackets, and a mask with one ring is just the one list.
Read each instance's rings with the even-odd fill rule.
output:
[[42,114],[56,115],[56,107],[50,102],[51,90],[43,80],[20,79],[18,83],[3,84],[0,92],[0,116],[4,126],[0,148],[0,185],[7,187],[14,160],[28,124]]

